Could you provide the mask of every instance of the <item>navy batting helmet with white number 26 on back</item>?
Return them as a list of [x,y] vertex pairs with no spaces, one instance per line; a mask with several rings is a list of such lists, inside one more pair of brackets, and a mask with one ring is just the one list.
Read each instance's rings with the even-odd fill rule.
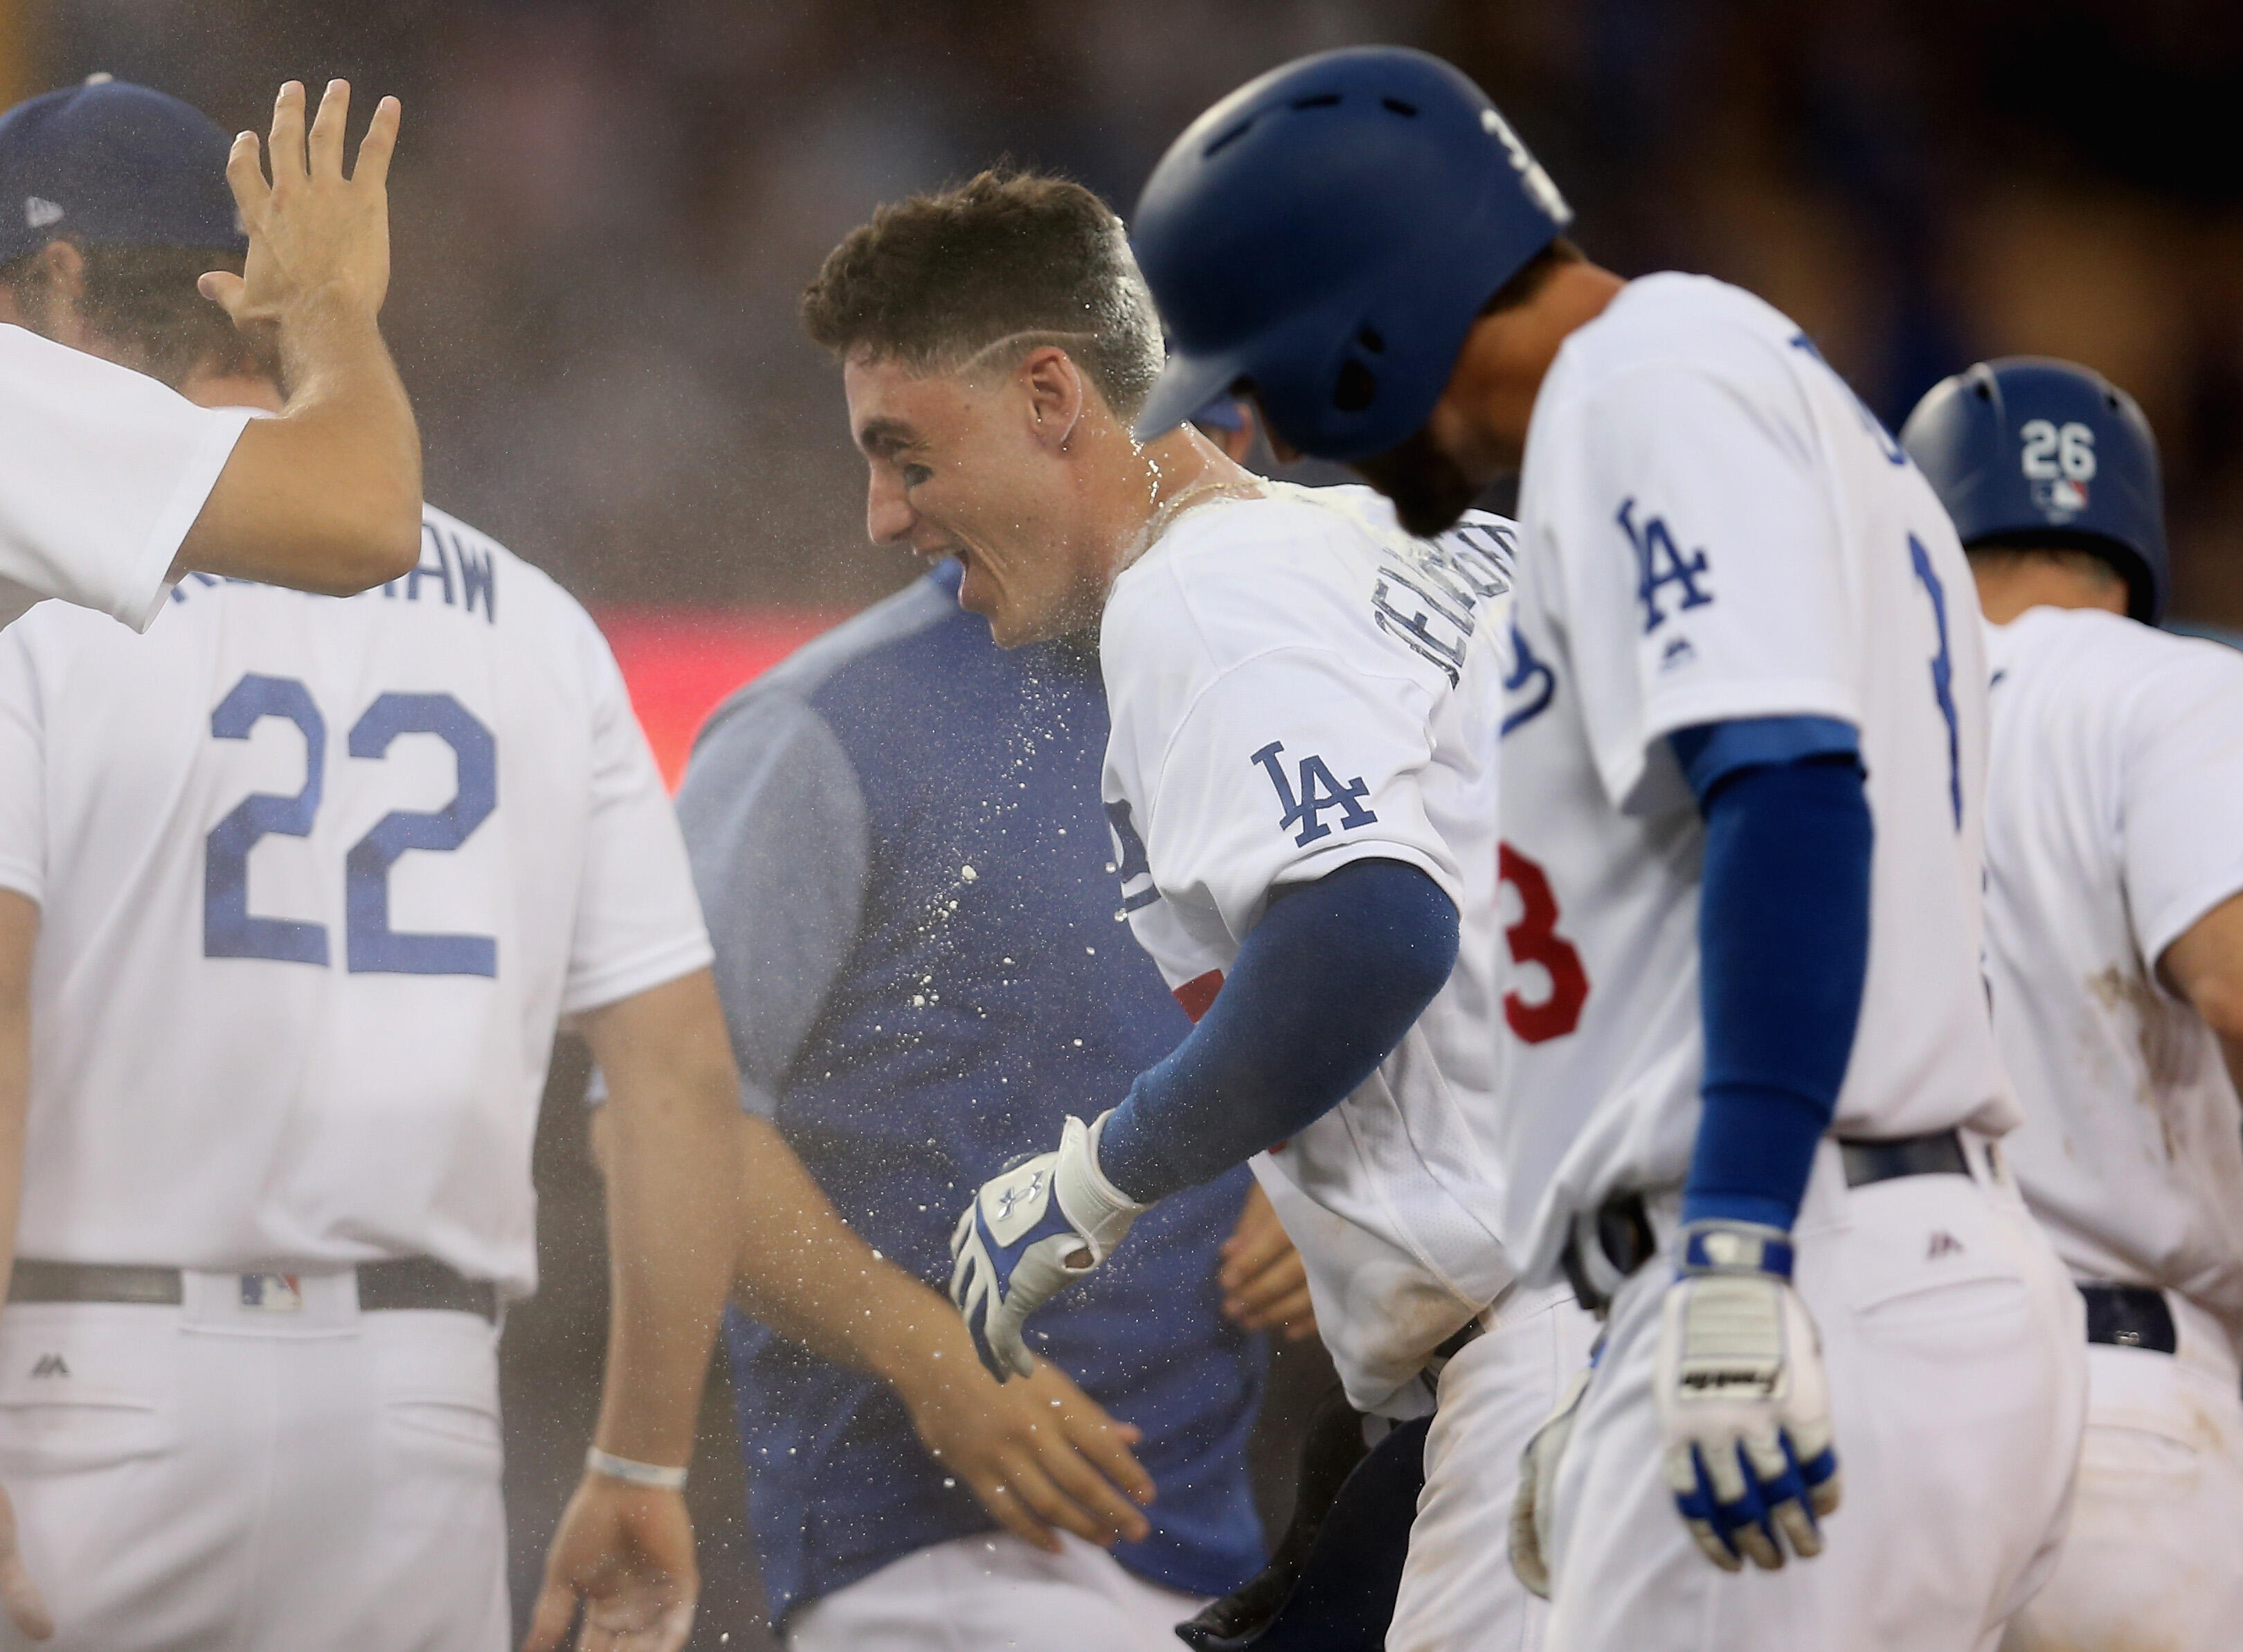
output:
[[2126,613],[2164,615],[2158,438],[2133,397],[2070,361],[2012,355],[1933,384],[1900,431],[1965,545],[2070,545],[2126,577]]

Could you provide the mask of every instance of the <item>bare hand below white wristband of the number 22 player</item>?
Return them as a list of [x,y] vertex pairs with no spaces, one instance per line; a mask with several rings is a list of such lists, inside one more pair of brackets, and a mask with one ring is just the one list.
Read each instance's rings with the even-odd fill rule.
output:
[[680,1652],[700,1598],[684,1495],[585,1475],[545,1555],[523,1652],[559,1652],[579,1598],[576,1652]]

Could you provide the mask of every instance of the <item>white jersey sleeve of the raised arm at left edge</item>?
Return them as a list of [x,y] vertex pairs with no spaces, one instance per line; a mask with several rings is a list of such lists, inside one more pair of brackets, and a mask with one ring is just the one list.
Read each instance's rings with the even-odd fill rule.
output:
[[146,631],[249,417],[0,325],[0,575]]

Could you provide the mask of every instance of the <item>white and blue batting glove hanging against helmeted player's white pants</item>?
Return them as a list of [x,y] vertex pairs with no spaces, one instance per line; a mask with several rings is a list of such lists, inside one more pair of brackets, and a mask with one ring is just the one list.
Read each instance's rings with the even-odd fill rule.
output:
[[1821,1553],[1837,1508],[1821,1338],[1792,1288],[1792,1239],[1745,1221],[1682,1228],[1653,1376],[1667,1486],[1723,1571]]

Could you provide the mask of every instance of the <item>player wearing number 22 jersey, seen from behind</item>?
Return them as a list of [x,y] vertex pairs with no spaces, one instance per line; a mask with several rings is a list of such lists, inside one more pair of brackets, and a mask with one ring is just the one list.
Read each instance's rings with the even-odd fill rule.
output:
[[[193,141],[85,195],[112,236],[85,267],[155,274],[126,319],[65,294],[43,321],[274,409],[269,377],[173,350],[200,258],[164,242],[206,220],[224,139],[166,119]],[[0,121],[0,171],[67,171],[40,130]],[[146,637],[52,602],[9,626],[0,1645],[507,1643],[496,1342],[534,1288],[563,1015],[612,1091],[615,1320],[532,1645],[576,1591],[585,1645],[682,1645],[736,1205],[709,958],[599,633],[442,512],[350,602],[195,575]]]

